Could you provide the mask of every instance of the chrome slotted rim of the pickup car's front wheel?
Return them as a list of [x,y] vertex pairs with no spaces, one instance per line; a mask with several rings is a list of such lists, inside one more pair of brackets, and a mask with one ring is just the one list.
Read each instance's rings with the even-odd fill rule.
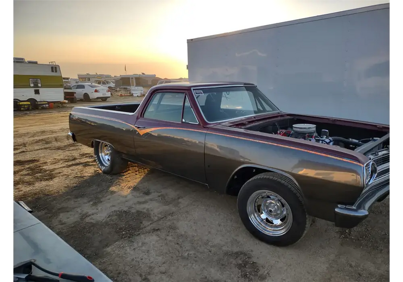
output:
[[288,203],[278,194],[259,190],[247,201],[250,222],[260,232],[268,236],[286,234],[293,223],[293,215]]

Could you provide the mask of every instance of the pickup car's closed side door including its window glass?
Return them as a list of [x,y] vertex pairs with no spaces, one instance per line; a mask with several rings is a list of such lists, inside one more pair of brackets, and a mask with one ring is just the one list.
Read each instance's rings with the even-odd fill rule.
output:
[[187,93],[156,92],[135,124],[138,162],[206,183],[204,142]]

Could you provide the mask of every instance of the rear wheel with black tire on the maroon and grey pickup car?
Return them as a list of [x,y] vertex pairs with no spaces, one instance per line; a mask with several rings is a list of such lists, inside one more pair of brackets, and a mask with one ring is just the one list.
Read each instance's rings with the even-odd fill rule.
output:
[[[109,164],[105,162],[102,157],[102,146],[108,145],[110,149],[110,160]],[[127,160],[120,157],[119,152],[117,152],[112,146],[104,142],[95,141],[94,142],[94,155],[97,162],[98,168],[105,174],[119,174],[126,170]]]

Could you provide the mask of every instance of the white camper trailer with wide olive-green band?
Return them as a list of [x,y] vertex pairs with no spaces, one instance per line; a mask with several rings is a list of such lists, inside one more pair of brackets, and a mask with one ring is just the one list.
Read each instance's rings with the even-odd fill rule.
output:
[[38,102],[64,100],[63,79],[57,64],[40,64],[13,57],[13,101]]

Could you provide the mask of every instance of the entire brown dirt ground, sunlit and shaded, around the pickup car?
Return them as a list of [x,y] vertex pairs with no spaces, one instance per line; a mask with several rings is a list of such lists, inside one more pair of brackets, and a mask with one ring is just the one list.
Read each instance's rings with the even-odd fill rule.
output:
[[246,231],[235,197],[137,165],[101,174],[65,138],[70,110],[13,112],[13,197],[113,281],[390,281],[390,196],[353,230],[317,220],[273,247]]

